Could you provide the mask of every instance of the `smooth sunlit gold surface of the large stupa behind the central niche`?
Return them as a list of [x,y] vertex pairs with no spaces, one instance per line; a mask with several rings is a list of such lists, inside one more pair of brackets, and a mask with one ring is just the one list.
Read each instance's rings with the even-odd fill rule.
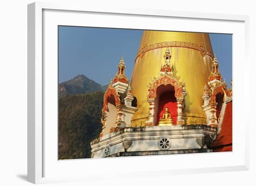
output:
[[[160,32],[144,31],[141,38],[141,48],[161,43],[165,41],[189,42],[196,45],[202,45],[211,53],[212,47],[207,33],[189,33],[189,32]],[[205,83],[211,71],[212,57],[202,55],[202,52],[185,47],[169,47],[171,50],[171,61],[174,65],[177,76],[186,83],[187,96],[185,98],[185,114],[194,114],[204,116],[202,109],[202,94]],[[136,58],[133,74],[131,77],[131,87],[134,96],[137,97],[138,110],[132,120],[134,122],[145,122],[145,115],[148,115],[148,83],[153,77],[157,77],[161,65],[164,64],[164,54],[166,47],[156,48],[146,51],[143,57]],[[143,118],[143,119],[142,119]],[[189,119],[189,118],[188,118]],[[196,120],[196,118],[195,118]],[[201,120],[199,120],[201,121]],[[188,123],[189,124],[189,123]]]

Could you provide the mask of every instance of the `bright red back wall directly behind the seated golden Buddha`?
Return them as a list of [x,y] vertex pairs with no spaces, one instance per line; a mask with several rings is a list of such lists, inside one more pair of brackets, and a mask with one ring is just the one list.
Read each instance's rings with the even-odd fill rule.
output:
[[157,112],[157,122],[159,122],[160,118],[165,112],[165,108],[168,107],[169,112],[171,113],[174,124],[177,124],[177,102],[176,97],[174,96],[174,91],[167,91],[162,93],[159,97],[159,106]]

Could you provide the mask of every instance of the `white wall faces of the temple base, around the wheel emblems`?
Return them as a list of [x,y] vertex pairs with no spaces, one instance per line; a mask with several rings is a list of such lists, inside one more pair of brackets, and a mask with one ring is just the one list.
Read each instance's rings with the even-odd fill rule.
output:
[[[109,147],[109,154],[125,152],[123,142],[132,141],[127,152],[150,152],[165,150],[201,149],[200,139],[205,135],[214,135],[216,129],[202,126],[200,128],[183,128],[182,126],[146,127],[141,131],[134,128],[124,128],[124,131],[103,136],[100,141],[91,144],[94,158],[106,157],[105,148]],[[168,139],[169,148],[159,147],[161,138]],[[207,146],[203,145],[207,149]],[[161,152],[160,152],[161,154]]]

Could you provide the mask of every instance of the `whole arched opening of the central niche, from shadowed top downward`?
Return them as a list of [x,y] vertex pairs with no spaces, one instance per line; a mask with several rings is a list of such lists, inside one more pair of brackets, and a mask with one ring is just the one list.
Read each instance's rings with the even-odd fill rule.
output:
[[168,107],[171,117],[176,125],[177,121],[177,99],[175,89],[171,84],[160,85],[156,90],[155,98],[155,118],[154,125],[157,125],[162,118],[165,108]]

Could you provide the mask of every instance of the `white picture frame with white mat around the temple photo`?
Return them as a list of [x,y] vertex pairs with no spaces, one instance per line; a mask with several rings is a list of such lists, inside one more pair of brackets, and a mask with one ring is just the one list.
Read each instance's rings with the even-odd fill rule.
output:
[[[77,20],[78,16],[88,16],[90,14],[95,21],[91,24],[81,25],[81,20]],[[58,16],[59,15],[59,16]],[[67,16],[68,15],[68,16]],[[99,16],[100,15],[100,16]],[[44,124],[46,121],[53,119],[53,117],[46,118],[44,115],[44,111],[46,107],[49,107],[47,100],[56,99],[56,96],[49,98],[49,90],[50,87],[47,87],[49,83],[49,76],[53,75],[54,78],[56,77],[56,64],[53,63],[51,68],[48,64],[44,64],[44,60],[49,59],[47,58],[47,50],[49,47],[48,41],[44,40],[45,37],[53,38],[52,41],[56,42],[54,37],[56,33],[51,31],[52,28],[56,31],[56,25],[72,25],[72,26],[97,26],[97,20],[102,18],[102,15],[109,16],[113,21],[111,21],[110,25],[108,21],[105,21],[105,27],[115,27],[115,24],[121,24],[118,26],[119,28],[132,28],[132,26],[127,26],[132,21],[126,22],[126,25],[123,24],[123,20],[129,20],[132,18],[140,18],[141,20],[145,19],[145,25],[143,25],[140,20],[138,19],[137,23],[140,23],[140,26],[144,29],[154,29],[154,25],[148,25],[147,27],[147,20],[146,19],[155,19],[161,21],[161,19],[174,19],[174,21],[179,19],[179,21],[202,21],[205,25],[214,25],[214,24],[222,24],[223,29],[225,29],[226,25],[227,30],[231,30],[232,26],[236,27],[236,31],[232,32],[224,32],[224,33],[235,33],[237,34],[237,40],[233,43],[233,87],[234,87],[234,112],[243,112],[245,115],[248,115],[245,110],[241,110],[239,106],[242,104],[244,108],[249,108],[249,103],[245,102],[245,90],[243,89],[236,89],[236,87],[247,86],[249,87],[249,81],[245,81],[249,79],[249,60],[248,60],[248,47],[249,47],[249,16],[241,16],[241,15],[225,15],[225,14],[210,14],[210,13],[191,13],[191,12],[173,12],[167,10],[147,10],[147,9],[136,9],[136,8],[119,8],[113,7],[112,9],[106,9],[104,7],[88,7],[85,4],[83,5],[76,5],[76,4],[52,4],[52,3],[32,3],[28,5],[28,181],[32,183],[51,183],[51,182],[63,182],[63,181],[79,181],[79,180],[104,180],[108,179],[109,174],[115,173],[116,176],[124,177],[125,176],[137,176],[137,173],[140,173],[140,176],[152,176],[152,175],[170,175],[170,174],[181,174],[181,173],[205,173],[205,172],[223,172],[223,171],[238,171],[238,170],[249,170],[249,128],[246,127],[249,125],[249,117],[240,118],[237,115],[233,115],[233,122],[234,122],[234,131],[233,131],[233,139],[234,144],[234,151],[232,153],[214,153],[214,154],[200,154],[200,158],[202,160],[209,160],[214,157],[219,159],[224,159],[219,164],[216,164],[215,161],[203,163],[204,165],[195,165],[191,162],[191,165],[180,165],[175,164],[174,160],[172,163],[173,167],[166,167],[164,164],[160,162],[165,162],[171,156],[172,159],[178,159],[180,156],[183,158],[197,158],[199,154],[179,154],[179,155],[165,155],[161,156],[145,156],[145,157],[125,157],[125,158],[108,158],[108,159],[97,159],[97,160],[65,160],[65,161],[58,161],[56,152],[57,148],[57,141],[56,139],[56,130],[57,128],[53,128],[50,130],[49,128],[45,127]],[[67,16],[67,17],[65,17]],[[96,16],[96,17],[94,17]],[[98,16],[98,18],[97,18]],[[122,16],[122,20],[114,20],[117,19],[118,16]],[[108,19],[110,19],[108,17]],[[50,19],[49,19],[50,18]],[[55,19],[57,18],[57,19]],[[65,21],[61,19],[65,19]],[[154,22],[154,21],[153,21]],[[210,24],[209,24],[210,23]],[[47,25],[49,24],[49,25]],[[134,22],[136,26],[136,21]],[[209,25],[208,25],[209,24]],[[52,26],[52,27],[51,27]],[[102,25],[101,25],[102,26]],[[102,27],[104,27],[102,26]],[[144,27],[143,27],[144,26]],[[175,31],[186,31],[185,25],[184,28],[179,28]],[[188,26],[188,25],[187,25]],[[49,29],[48,29],[49,28]],[[135,28],[135,27],[133,27]],[[159,28],[156,28],[159,29]],[[169,30],[167,27],[162,27],[162,29]],[[239,32],[240,33],[239,33]],[[205,30],[202,28],[194,28],[190,30],[190,32],[221,32],[216,27],[207,27]],[[53,35],[51,35],[53,33]],[[236,35],[235,34],[235,35]],[[55,36],[54,36],[55,35]],[[239,36],[239,37],[238,37]],[[238,41],[240,44],[238,45]],[[56,43],[52,45],[53,47],[51,51],[56,51]],[[55,47],[55,48],[54,48]],[[241,51],[236,53],[236,51]],[[49,54],[51,58],[54,54]],[[239,61],[243,61],[243,69],[239,69],[238,65],[236,65]],[[236,78],[238,77],[239,78]],[[47,80],[48,79],[48,80]],[[52,82],[53,84],[49,86],[57,86],[56,82]],[[55,85],[54,85],[55,83]],[[57,94],[57,89],[54,94]],[[48,95],[48,96],[47,96]],[[248,96],[247,96],[248,97]],[[47,108],[51,109],[51,108]],[[54,109],[54,107],[52,108]],[[55,121],[56,121],[55,116]],[[237,136],[237,128],[236,123],[242,123],[243,127],[241,127],[239,136]],[[56,124],[56,123],[55,123]],[[47,140],[44,138],[44,135],[47,133]],[[54,136],[54,137],[53,137]],[[239,138],[239,139],[238,139]],[[52,142],[52,147],[49,147],[48,141]],[[237,143],[236,143],[237,142]],[[48,149],[49,148],[49,149]],[[54,153],[51,155],[51,148],[54,149]],[[235,155],[234,155],[235,154]],[[234,157],[233,157],[234,156]],[[232,163],[236,158],[236,163]],[[54,161],[51,163],[50,159]],[[230,161],[229,161],[230,159]],[[151,161],[150,166],[146,166],[148,161]],[[233,161],[232,161],[233,160]],[[56,162],[55,162],[56,161]],[[72,171],[68,172],[67,175],[62,174],[54,174],[56,170],[63,170],[65,167],[68,170],[74,170],[74,167],[78,167],[78,170],[82,170],[83,162],[87,163],[91,170],[84,170],[86,174],[83,172],[79,174],[78,172]],[[135,161],[137,165],[133,165],[134,167],[130,166],[130,163]],[[186,160],[185,160],[186,161]],[[226,161],[226,163],[225,163]],[[157,163],[158,162],[158,163]],[[189,162],[189,160],[188,160]],[[110,168],[108,170],[109,173],[104,173],[104,170],[95,171],[93,165],[96,167],[99,165],[104,165],[111,167],[111,165],[122,165],[122,167],[126,167],[125,169],[121,168],[117,172],[114,168]],[[54,165],[56,164],[56,167]],[[161,165],[159,165],[161,164]],[[200,163],[198,163],[200,164]],[[216,164],[216,165],[215,165]],[[143,165],[138,167],[139,165]],[[53,166],[53,167],[51,167]],[[137,167],[136,167],[137,166]],[[55,169],[57,168],[57,169]],[[135,169],[133,169],[135,168]],[[53,170],[51,173],[50,170]],[[81,171],[80,171],[81,172]],[[105,171],[106,172],[106,171]],[[85,176],[86,175],[86,176]]]

